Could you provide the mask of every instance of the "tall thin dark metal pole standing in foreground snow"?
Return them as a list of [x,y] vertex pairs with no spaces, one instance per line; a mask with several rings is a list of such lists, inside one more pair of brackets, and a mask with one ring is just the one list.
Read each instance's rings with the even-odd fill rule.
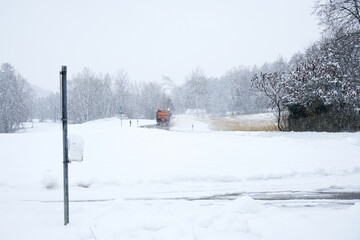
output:
[[69,223],[69,181],[68,181],[68,139],[67,139],[67,92],[66,66],[61,67],[61,105],[63,124],[63,164],[64,164],[64,225]]

